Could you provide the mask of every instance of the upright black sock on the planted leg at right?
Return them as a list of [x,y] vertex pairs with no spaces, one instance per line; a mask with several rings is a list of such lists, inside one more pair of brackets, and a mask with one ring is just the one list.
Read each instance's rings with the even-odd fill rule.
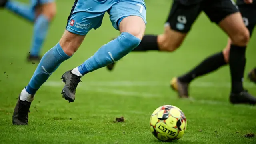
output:
[[243,88],[243,77],[244,68],[246,63],[245,58],[246,46],[235,46],[231,45],[229,54],[229,67],[231,74],[231,92],[239,93],[244,90]]

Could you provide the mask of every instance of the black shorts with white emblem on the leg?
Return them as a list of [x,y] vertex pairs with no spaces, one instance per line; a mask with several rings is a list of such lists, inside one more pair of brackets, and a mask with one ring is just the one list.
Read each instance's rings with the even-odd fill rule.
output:
[[167,24],[170,24],[172,30],[187,33],[202,11],[212,22],[217,24],[226,16],[239,12],[238,6],[231,0],[204,0],[192,5],[184,5],[174,1]]

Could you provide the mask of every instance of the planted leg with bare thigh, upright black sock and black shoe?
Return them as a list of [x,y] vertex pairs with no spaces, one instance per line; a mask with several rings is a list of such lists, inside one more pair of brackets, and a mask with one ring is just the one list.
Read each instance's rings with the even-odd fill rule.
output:
[[242,16],[239,12],[224,18],[219,23],[219,26],[228,34],[232,41],[229,55],[229,65],[232,81],[230,102],[232,104],[255,104],[256,98],[251,96],[243,88],[243,76],[246,64],[245,51],[250,38],[249,31],[244,25]]

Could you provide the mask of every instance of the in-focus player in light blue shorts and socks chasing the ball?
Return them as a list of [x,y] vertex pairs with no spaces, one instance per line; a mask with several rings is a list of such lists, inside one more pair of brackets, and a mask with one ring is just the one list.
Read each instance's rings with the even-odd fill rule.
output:
[[113,27],[121,34],[104,44],[83,64],[63,74],[63,98],[74,102],[76,87],[82,76],[120,60],[140,44],[146,28],[144,0],[76,0],[62,38],[44,54],[29,84],[20,93],[12,117],[13,124],[28,124],[28,111],[36,91],[62,62],[78,50],[86,34],[92,28],[101,26],[105,12],[108,12]]

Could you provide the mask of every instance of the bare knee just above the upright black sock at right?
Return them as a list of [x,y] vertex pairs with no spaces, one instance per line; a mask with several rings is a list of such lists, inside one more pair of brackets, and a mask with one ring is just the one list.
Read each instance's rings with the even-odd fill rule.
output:
[[246,29],[232,37],[232,43],[238,46],[246,46],[250,40],[250,33]]

